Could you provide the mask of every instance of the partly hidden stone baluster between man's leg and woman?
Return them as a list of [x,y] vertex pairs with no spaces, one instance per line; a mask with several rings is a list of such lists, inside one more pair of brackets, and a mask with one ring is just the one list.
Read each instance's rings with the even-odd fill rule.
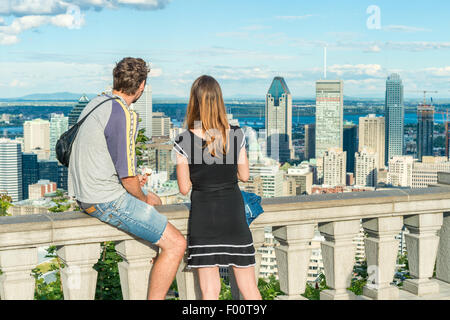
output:
[[178,294],[181,300],[201,300],[202,291],[195,268],[186,268],[187,255],[183,258],[177,271]]

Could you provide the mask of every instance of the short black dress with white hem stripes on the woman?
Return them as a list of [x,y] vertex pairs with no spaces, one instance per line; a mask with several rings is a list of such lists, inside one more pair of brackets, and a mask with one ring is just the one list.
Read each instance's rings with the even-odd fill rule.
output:
[[229,151],[219,158],[213,158],[206,141],[190,130],[175,139],[174,150],[188,159],[192,182],[188,268],[255,265],[237,179],[237,159],[245,136],[240,127],[230,127]]

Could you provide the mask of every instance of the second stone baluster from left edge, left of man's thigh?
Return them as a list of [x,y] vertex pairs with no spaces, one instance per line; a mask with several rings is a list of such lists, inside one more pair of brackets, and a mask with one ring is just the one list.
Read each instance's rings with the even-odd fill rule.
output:
[[92,267],[100,257],[100,243],[65,245],[57,250],[65,267],[61,282],[65,300],[94,300],[97,271]]

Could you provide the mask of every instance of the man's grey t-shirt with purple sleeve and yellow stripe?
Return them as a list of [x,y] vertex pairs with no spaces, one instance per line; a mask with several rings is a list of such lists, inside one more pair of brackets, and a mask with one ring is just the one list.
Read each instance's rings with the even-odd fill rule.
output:
[[[137,175],[138,115],[119,96],[98,107],[80,127],[69,162],[69,195],[83,203],[104,203],[126,192],[120,179]],[[94,98],[82,119],[103,100]]]

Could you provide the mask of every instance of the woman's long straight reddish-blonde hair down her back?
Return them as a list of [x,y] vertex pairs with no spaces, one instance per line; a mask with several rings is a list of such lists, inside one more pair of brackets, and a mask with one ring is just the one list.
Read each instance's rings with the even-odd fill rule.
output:
[[226,154],[229,134],[227,113],[220,85],[211,76],[203,75],[192,84],[185,119],[187,129],[194,129],[196,121],[201,121],[209,153],[216,157],[222,149],[222,154]]

